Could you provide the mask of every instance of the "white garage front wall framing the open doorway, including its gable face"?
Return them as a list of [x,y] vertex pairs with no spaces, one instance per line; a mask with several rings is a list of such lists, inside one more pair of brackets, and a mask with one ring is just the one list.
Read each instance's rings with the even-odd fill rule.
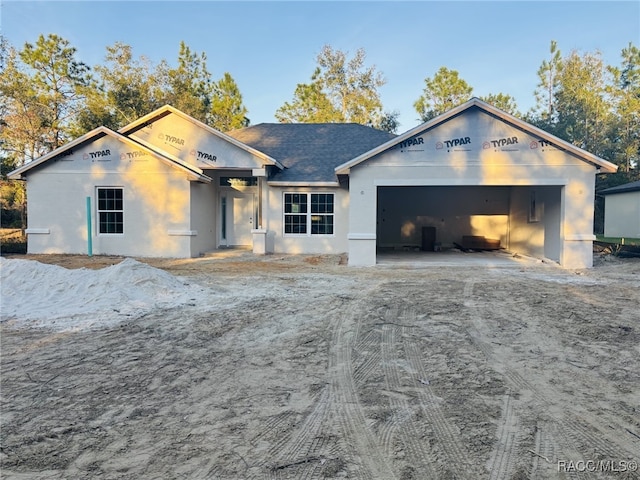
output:
[[480,110],[468,110],[412,140],[351,168],[350,264],[375,263],[378,187],[455,185],[555,187],[541,190],[540,200],[552,212],[548,230],[557,240],[547,238],[545,252],[544,217],[524,227],[519,213],[528,210],[524,194],[512,198],[510,246],[549,253],[568,268],[592,265],[595,167]]

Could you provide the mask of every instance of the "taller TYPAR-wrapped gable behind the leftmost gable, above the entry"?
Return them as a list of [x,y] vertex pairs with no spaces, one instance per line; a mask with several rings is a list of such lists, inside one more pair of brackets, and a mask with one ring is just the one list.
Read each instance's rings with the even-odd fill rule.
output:
[[119,133],[168,152],[199,168],[260,168],[279,162],[233,137],[165,105],[121,128]]

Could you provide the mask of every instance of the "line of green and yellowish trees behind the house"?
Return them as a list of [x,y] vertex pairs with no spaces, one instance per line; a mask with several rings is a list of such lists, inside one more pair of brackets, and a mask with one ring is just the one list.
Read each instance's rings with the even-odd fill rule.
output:
[[[283,123],[354,122],[396,133],[397,111],[385,111],[382,72],[367,66],[366,53],[348,54],[325,45],[306,83],[274,113]],[[249,110],[229,72],[214,79],[204,52],[180,43],[177,62],[153,64],[135,57],[130,45],[106,47],[104,63],[88,66],[77,50],[55,34],[40,35],[21,49],[0,36],[0,160],[6,174],[95,127],[117,130],[171,104],[188,115],[229,131],[250,125]],[[469,100],[473,87],[455,70],[441,67],[417,87],[413,104],[427,121]],[[535,106],[518,111],[515,99],[492,93],[482,100],[619,166],[600,176],[599,187],[639,178],[640,50],[629,43],[618,65],[599,52],[563,55],[556,42],[538,70]],[[20,202],[16,187],[2,185],[6,203]],[[7,199],[11,192],[13,198]],[[8,193],[9,192],[9,193]],[[11,195],[9,195],[11,196]]]

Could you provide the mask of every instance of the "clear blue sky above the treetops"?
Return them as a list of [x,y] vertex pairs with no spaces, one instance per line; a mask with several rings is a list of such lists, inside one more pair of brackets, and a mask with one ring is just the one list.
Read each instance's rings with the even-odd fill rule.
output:
[[640,2],[634,1],[7,1],[2,35],[21,48],[55,33],[88,65],[117,41],[134,55],[176,64],[180,41],[207,55],[215,79],[229,72],[252,124],[307,83],[323,45],[366,52],[387,83],[386,111],[400,112],[399,132],[420,122],[413,103],[424,79],[442,66],[457,70],[476,96],[510,94],[520,111],[534,104],[536,72],[551,40],[563,54],[602,53],[619,65],[629,42],[640,45]]

